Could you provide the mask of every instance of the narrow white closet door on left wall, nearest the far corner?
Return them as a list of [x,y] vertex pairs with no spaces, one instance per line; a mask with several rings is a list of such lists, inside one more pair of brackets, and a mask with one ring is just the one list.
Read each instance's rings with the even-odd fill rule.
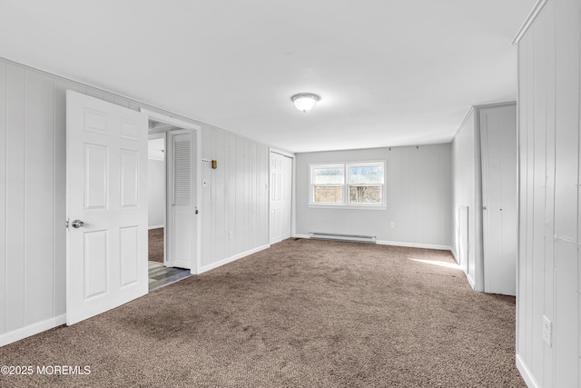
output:
[[292,158],[271,152],[271,244],[291,237]]

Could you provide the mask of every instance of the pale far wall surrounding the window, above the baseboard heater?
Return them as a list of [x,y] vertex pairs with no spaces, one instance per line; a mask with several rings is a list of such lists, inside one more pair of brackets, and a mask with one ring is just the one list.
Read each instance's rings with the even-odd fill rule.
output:
[[[387,210],[309,207],[310,163],[365,160],[387,160]],[[450,144],[297,154],[296,234],[375,235],[384,244],[449,249],[451,176]]]

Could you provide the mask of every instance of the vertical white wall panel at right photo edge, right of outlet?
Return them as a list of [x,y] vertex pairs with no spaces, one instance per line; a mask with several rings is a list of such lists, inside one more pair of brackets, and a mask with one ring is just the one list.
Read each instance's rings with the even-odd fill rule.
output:
[[578,386],[579,2],[556,2],[556,386]]

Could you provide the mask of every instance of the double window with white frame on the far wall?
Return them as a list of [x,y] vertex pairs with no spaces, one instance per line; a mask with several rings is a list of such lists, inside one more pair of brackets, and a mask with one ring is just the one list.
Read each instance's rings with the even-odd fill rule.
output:
[[309,204],[385,208],[385,162],[310,164]]

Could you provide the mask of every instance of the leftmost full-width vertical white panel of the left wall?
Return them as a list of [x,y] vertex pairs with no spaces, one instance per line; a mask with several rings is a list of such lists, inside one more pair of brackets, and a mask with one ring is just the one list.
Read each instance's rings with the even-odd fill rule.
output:
[[[25,326],[25,70],[7,65],[6,331]],[[33,194],[33,193],[31,193]],[[34,194],[33,194],[34,195]]]

